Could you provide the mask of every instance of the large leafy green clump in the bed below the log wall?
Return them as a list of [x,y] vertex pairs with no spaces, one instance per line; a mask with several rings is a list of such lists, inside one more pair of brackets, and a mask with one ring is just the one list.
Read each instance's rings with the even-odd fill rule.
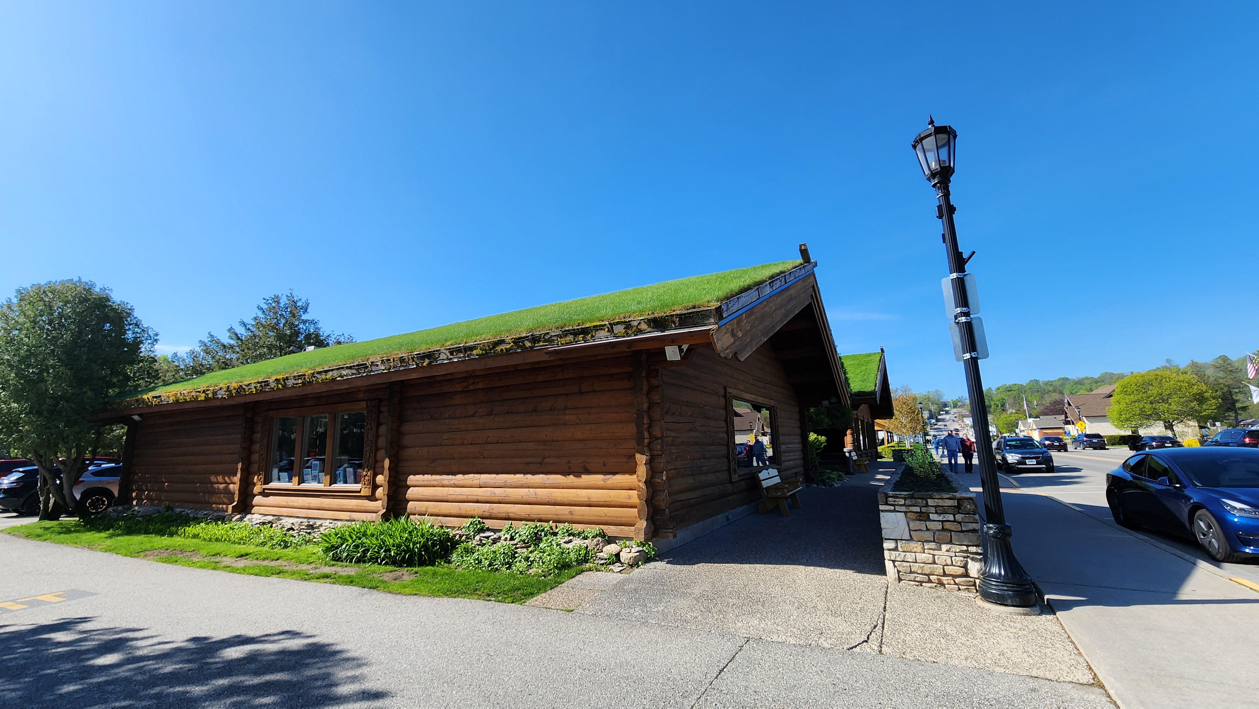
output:
[[427,519],[356,521],[319,536],[319,548],[334,562],[383,567],[427,567],[444,562],[454,549],[451,530]]

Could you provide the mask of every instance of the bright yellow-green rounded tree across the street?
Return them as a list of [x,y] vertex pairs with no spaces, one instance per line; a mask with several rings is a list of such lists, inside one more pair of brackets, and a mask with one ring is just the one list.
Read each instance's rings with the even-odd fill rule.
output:
[[1138,429],[1162,423],[1172,436],[1176,424],[1205,421],[1220,400],[1201,379],[1176,366],[1129,374],[1115,385],[1107,416],[1118,428]]

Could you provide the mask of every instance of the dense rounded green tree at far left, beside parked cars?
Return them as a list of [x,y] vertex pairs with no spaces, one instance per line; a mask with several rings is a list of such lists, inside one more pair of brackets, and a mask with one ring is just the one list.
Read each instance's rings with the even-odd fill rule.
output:
[[149,383],[156,339],[89,281],[34,285],[0,305],[0,434],[39,467],[40,519],[58,516],[53,502],[73,509],[84,457],[116,436],[93,417]]

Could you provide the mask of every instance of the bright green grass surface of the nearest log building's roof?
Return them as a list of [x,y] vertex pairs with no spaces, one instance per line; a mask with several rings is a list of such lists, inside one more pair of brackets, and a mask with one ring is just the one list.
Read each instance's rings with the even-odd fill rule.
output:
[[764,266],[724,271],[708,276],[665,281],[653,286],[627,288],[602,296],[589,296],[526,307],[488,317],[442,325],[441,327],[407,332],[405,335],[393,335],[364,343],[350,343],[347,345],[322,348],[268,359],[266,361],[256,361],[233,369],[212,372],[195,379],[156,387],[137,394],[160,394],[184,389],[201,389],[220,384],[254,382],[402,353],[417,353],[465,343],[478,343],[530,332],[546,332],[560,327],[594,325],[627,317],[710,307],[743,291],[759,286],[796,266],[799,266],[799,261],[765,263]]

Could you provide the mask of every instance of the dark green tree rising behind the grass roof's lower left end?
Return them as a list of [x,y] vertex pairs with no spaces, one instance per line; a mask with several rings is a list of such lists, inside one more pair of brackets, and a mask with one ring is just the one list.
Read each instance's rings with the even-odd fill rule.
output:
[[239,322],[239,330],[234,326],[228,327],[227,340],[210,332],[193,350],[171,356],[170,361],[178,374],[169,369],[165,374],[175,375],[176,378],[170,380],[176,382],[300,353],[308,348],[327,348],[354,341],[349,335],[324,331],[319,320],[307,317],[310,307],[308,300],[295,296],[292,291],[268,296],[263,298],[258,314],[252,320]]

